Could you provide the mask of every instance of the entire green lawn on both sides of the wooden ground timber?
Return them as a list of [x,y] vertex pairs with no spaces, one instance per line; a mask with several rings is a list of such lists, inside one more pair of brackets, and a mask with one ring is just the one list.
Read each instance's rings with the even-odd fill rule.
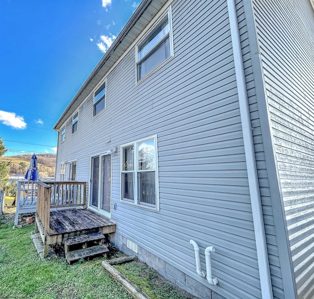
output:
[[[103,257],[74,265],[65,258],[42,261],[30,239],[34,225],[12,227],[0,219],[1,299],[132,299],[104,270]],[[138,260],[115,267],[152,299],[192,298]]]

